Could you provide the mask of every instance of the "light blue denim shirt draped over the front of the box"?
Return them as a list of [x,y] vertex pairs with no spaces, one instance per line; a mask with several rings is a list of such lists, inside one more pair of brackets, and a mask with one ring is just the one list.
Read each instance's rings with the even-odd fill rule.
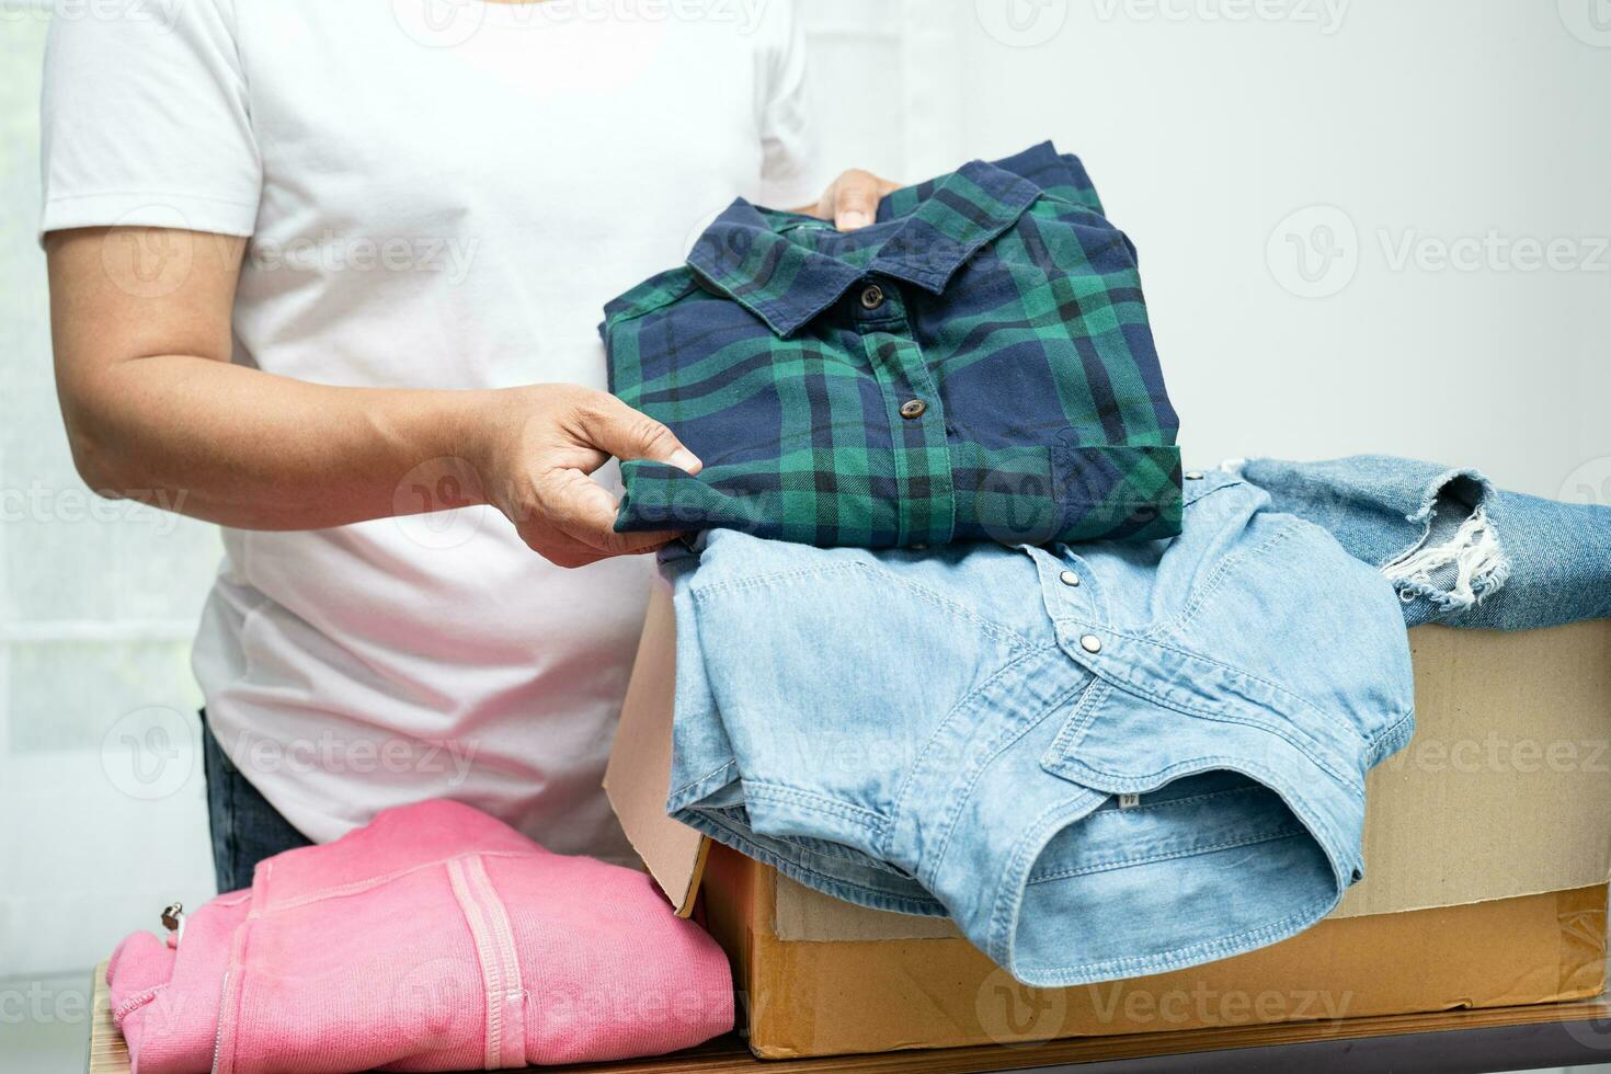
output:
[[817,549],[712,531],[675,583],[667,808],[1070,985],[1292,936],[1361,874],[1413,728],[1389,581],[1265,493],[1144,544]]

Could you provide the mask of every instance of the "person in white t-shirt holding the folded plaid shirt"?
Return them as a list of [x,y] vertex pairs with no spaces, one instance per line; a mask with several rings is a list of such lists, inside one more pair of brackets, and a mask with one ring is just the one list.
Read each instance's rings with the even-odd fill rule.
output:
[[90,488],[224,527],[221,890],[443,795],[623,857],[599,778],[670,535],[590,475],[699,461],[601,391],[596,322],[733,195],[872,217],[867,172],[817,196],[793,11],[121,6],[52,26],[56,378]]

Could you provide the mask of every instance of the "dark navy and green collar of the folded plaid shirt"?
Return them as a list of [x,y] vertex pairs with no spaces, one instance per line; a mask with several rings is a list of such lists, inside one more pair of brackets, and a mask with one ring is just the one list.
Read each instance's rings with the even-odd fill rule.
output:
[[1028,179],[971,161],[941,180],[910,213],[888,219],[880,213],[878,224],[857,232],[883,237],[865,264],[799,242],[797,225],[812,217],[759,209],[738,198],[704,230],[688,264],[702,282],[788,338],[870,274],[939,295],[957,269],[1012,227],[1039,195],[1041,188]]

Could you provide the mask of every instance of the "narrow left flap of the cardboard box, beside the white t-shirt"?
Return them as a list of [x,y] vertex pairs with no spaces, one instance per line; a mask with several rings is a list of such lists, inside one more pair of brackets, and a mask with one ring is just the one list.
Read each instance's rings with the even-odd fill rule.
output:
[[633,850],[677,907],[693,913],[704,870],[706,841],[688,824],[665,815],[672,781],[672,715],[677,684],[677,618],[672,588],[654,581],[643,620],[638,659],[622,702],[615,744],[604,768],[604,794]]

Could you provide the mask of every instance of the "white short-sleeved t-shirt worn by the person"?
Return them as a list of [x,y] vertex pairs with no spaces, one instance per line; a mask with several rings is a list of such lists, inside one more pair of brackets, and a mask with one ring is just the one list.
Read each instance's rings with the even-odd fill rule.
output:
[[[50,29],[40,230],[250,235],[237,364],[603,388],[607,299],[735,195],[820,193],[804,84],[780,0],[74,5]],[[625,853],[599,779],[651,559],[561,570],[491,507],[224,546],[195,671],[296,828],[453,797]]]

